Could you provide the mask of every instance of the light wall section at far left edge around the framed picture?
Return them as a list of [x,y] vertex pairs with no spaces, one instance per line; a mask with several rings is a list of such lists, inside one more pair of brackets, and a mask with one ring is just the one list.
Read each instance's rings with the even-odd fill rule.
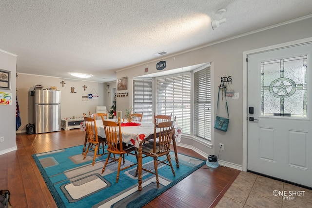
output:
[[16,60],[16,55],[0,50],[0,69],[11,71],[11,89],[1,88],[0,91],[12,93],[12,104],[0,105],[0,137],[4,137],[4,141],[0,143],[0,155],[16,150]]

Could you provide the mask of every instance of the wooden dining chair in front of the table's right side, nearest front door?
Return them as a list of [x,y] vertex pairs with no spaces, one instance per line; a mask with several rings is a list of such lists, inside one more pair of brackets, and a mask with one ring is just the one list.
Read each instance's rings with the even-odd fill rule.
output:
[[[154,139],[151,142],[142,145],[142,154],[145,155],[144,157],[151,156],[154,158],[155,172],[153,172],[152,170],[148,170],[146,168],[142,168],[142,170],[156,175],[157,188],[159,188],[158,170],[157,170],[157,166],[159,164],[163,163],[169,165],[171,167],[172,173],[174,174],[174,176],[176,176],[170,158],[170,143],[172,137],[174,136],[175,122],[176,118],[173,121],[165,121],[160,123],[156,123],[155,121]],[[158,157],[160,156],[166,156],[166,158],[160,160],[158,159]]]

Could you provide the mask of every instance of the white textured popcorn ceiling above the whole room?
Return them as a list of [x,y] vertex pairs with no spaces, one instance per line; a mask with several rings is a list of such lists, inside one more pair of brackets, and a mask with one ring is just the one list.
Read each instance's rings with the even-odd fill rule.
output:
[[[217,10],[227,22],[213,30]],[[17,72],[109,82],[116,70],[312,14],[311,0],[0,0]]]

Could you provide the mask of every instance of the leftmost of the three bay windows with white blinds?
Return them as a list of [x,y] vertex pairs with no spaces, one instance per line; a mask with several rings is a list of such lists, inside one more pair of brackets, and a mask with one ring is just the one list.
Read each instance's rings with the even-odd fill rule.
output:
[[153,121],[153,82],[133,80],[133,112],[142,113],[144,122]]

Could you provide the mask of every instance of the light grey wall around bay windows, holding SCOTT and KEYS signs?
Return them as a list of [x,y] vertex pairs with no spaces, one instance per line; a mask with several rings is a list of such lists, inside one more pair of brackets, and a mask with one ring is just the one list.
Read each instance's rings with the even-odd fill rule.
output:
[[[224,150],[221,151],[219,160],[233,163],[237,166],[242,166],[243,119],[246,119],[243,118],[243,111],[247,111],[247,109],[242,109],[243,64],[246,64],[246,62],[242,62],[242,53],[257,48],[312,37],[311,25],[312,18],[309,18],[255,34],[238,37],[215,45],[206,46],[191,52],[185,52],[172,57],[164,56],[164,58],[159,59],[167,62],[167,68],[164,70],[177,69],[211,62],[214,73],[214,76],[212,77],[212,85],[214,86],[213,100],[216,101],[217,99],[217,90],[220,84],[220,77],[232,76],[231,87],[235,92],[239,93],[239,99],[228,99],[230,113],[230,124],[228,131],[221,132],[212,128],[212,131],[215,131],[215,137],[212,138],[213,144],[215,146],[212,149],[196,142],[193,139],[182,138],[181,142],[183,144],[193,146],[207,155],[218,155],[219,143],[223,143]],[[130,69],[117,71],[117,78],[128,77],[128,90],[126,90],[126,92],[129,93],[128,97],[122,97],[120,99],[117,98],[117,110],[124,110],[130,106],[129,104],[131,103],[132,98],[132,78],[147,73],[156,73],[156,63],[159,62],[159,60],[142,63],[142,65]],[[144,70],[146,64],[149,66],[149,72],[147,73]],[[117,93],[118,92],[123,91],[117,91]],[[214,102],[214,108],[216,110],[216,102]],[[215,117],[215,112],[213,115]]]

